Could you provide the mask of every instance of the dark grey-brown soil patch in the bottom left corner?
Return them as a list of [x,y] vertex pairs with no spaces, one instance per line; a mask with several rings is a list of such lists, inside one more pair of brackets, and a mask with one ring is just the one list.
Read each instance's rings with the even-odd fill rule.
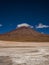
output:
[[0,56],[0,65],[12,65],[12,60],[9,56]]

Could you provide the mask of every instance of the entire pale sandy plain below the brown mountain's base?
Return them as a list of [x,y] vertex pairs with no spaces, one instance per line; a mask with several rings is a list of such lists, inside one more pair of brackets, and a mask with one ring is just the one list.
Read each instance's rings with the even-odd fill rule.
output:
[[49,65],[49,42],[0,41],[0,65]]

